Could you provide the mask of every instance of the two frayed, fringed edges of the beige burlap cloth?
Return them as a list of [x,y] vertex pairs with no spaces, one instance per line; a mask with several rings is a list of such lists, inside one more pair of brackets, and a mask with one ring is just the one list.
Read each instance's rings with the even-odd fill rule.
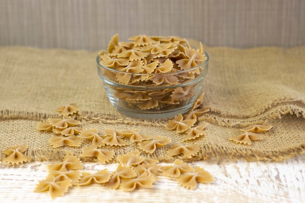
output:
[[[278,106],[265,111],[259,116],[250,117],[250,118],[227,118],[222,117],[221,114],[210,111],[200,117],[198,117],[199,121],[205,121],[212,123],[214,125],[222,126],[222,127],[244,127],[248,124],[257,124],[264,123],[268,120],[274,119],[282,119],[285,115],[291,114],[297,117],[305,118],[305,108],[301,105],[297,104],[280,104]],[[97,114],[90,114],[89,112],[82,112],[79,115],[85,122],[105,122],[105,123],[123,123],[123,124],[131,124],[134,123],[145,125],[145,126],[163,126],[165,121],[148,121],[148,120],[137,120],[137,119],[124,119],[124,118],[114,118],[113,116],[101,116]],[[41,121],[48,117],[56,117],[56,114],[47,115],[41,113],[34,112],[16,112],[16,111],[1,111],[0,120],[6,119],[27,119],[27,120],[37,120]],[[63,157],[69,153],[69,151],[64,151],[61,149],[54,149],[51,151],[48,150],[33,150],[27,149],[25,151],[25,155],[30,157],[32,161],[50,161],[50,160],[61,160]],[[299,146],[295,146],[294,148],[287,148],[285,150],[269,150],[269,151],[260,151],[251,148],[226,148],[221,145],[209,145],[206,144],[201,147],[201,150],[197,154],[197,156],[186,159],[184,157],[169,157],[165,152],[157,152],[153,154],[144,154],[145,157],[157,159],[162,162],[172,162],[174,159],[182,159],[185,162],[191,161],[200,161],[200,160],[247,160],[247,161],[284,161],[286,159],[292,158],[294,156],[305,153],[305,143],[300,144]],[[75,154],[79,156],[80,154]],[[122,154],[116,154],[116,156]],[[0,152],[0,160],[5,158],[5,154]],[[116,162],[114,159],[112,162]]]

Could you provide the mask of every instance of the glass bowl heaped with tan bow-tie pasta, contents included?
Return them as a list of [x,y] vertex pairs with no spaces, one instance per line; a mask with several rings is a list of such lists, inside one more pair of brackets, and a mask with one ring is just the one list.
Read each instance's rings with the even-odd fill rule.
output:
[[209,55],[182,37],[111,38],[96,57],[98,75],[117,111],[137,118],[170,118],[189,111],[202,93]]

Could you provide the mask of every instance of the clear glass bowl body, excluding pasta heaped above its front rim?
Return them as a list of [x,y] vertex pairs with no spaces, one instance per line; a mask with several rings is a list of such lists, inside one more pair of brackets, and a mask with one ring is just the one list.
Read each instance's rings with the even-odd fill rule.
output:
[[[158,74],[117,71],[101,65],[99,55],[96,62],[106,94],[117,111],[136,118],[162,119],[190,111],[202,93],[208,72],[209,55],[205,55],[207,59],[196,67]],[[119,78],[129,82],[125,84]]]

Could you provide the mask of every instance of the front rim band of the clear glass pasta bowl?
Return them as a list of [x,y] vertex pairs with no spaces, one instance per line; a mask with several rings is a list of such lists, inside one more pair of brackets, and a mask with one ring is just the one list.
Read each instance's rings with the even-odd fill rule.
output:
[[[199,68],[199,67],[201,67],[201,66],[204,66],[206,63],[209,62],[209,55],[208,55],[208,53],[207,53],[206,51],[204,51],[204,53],[205,53],[205,55],[207,56],[207,59],[206,59],[203,63],[199,64],[198,66],[195,66],[195,67],[190,68],[190,69],[187,69],[187,70],[180,70],[180,71],[168,72],[168,73],[150,74],[150,75],[183,74],[183,73],[191,72],[192,70],[195,70],[195,69],[197,69],[197,68]],[[117,71],[117,70],[115,70],[115,69],[112,69],[112,68],[103,66],[103,65],[101,65],[101,64],[99,63],[99,55],[97,55],[97,57],[96,57],[96,63],[97,63],[97,65],[100,66],[101,68],[106,69],[106,70],[108,70],[108,71],[112,71],[112,72],[114,72],[114,73],[132,74],[132,75],[146,75],[146,74],[149,74],[149,73],[144,73],[144,74],[143,74],[143,73],[130,73],[130,72],[124,72],[124,71]]]

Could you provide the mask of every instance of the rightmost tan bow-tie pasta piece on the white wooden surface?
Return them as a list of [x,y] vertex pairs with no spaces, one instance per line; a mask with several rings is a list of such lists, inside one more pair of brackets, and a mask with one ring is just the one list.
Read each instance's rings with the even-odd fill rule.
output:
[[182,174],[177,178],[179,185],[188,189],[194,189],[198,183],[210,183],[213,181],[213,177],[210,173],[199,166],[194,172]]

